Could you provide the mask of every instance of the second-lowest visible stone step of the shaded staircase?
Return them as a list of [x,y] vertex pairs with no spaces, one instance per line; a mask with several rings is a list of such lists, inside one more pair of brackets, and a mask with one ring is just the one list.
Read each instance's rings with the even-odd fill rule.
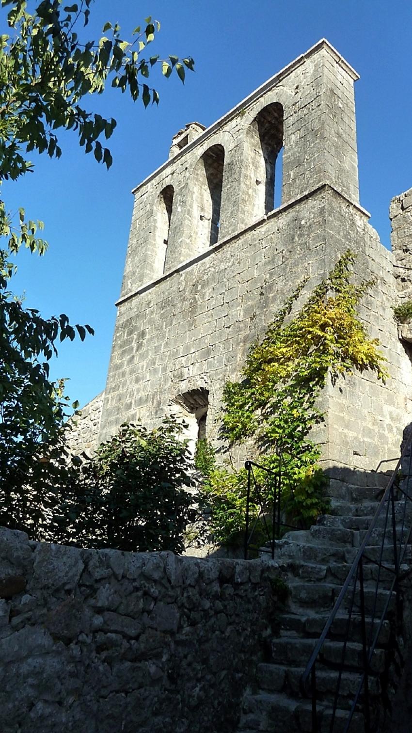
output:
[[[283,666],[274,663],[257,665],[257,682],[261,690],[266,692],[290,692],[293,696],[301,694],[301,677],[305,668],[301,666]],[[361,672],[344,671],[339,685],[339,670],[328,669],[317,663],[316,690],[322,696],[322,701],[333,698],[339,685],[339,697],[355,695],[361,680]],[[369,676],[369,693],[380,695],[380,681],[378,677]],[[309,688],[308,688],[309,692]],[[345,706],[346,707],[346,706]]]

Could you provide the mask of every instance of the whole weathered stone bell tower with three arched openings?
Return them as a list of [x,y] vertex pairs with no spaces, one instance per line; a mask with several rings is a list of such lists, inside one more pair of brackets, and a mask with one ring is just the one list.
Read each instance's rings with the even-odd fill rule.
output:
[[200,410],[216,441],[224,382],[240,374],[251,341],[302,276],[309,290],[350,248],[358,275],[375,279],[361,318],[391,378],[329,385],[317,438],[326,464],[360,471],[399,453],[411,362],[391,312],[393,258],[358,201],[357,78],[322,40],[207,130],[188,125],[135,189],[100,440],[123,421],[152,427],[179,410],[193,438]]

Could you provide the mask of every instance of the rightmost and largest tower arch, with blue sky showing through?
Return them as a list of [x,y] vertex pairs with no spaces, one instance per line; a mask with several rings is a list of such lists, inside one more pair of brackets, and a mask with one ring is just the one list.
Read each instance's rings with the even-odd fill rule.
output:
[[[257,219],[275,207],[276,159],[283,147],[283,107],[273,102],[258,112],[246,133],[250,164],[252,218]],[[276,199],[282,182],[276,180]],[[278,191],[279,190],[279,191]]]

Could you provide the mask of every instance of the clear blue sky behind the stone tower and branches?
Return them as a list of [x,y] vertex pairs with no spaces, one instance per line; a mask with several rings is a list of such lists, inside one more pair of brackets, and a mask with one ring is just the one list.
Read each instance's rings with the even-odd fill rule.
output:
[[[109,172],[62,139],[60,161],[42,156],[34,174],[4,186],[7,207],[45,221],[43,258],[23,253],[14,290],[44,316],[67,313],[95,336],[63,344],[52,376],[84,404],[106,382],[133,205],[131,188],[167,158],[186,122],[210,125],[310,46],[327,38],[360,73],[356,83],[361,204],[389,246],[389,200],[412,186],[412,4],[400,0],[95,0],[92,37],[106,20],[133,29],[152,15],[162,23],[151,54],[194,56],[185,86],[154,74],[158,108],[144,110],[120,92],[89,102],[117,119]],[[93,30],[95,32],[93,32]],[[4,33],[6,29],[1,29]]]

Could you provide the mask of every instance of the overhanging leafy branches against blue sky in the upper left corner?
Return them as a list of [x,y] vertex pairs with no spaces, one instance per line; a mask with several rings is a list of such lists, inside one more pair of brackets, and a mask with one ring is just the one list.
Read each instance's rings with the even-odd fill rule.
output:
[[[0,36],[0,169],[1,177],[12,178],[32,170],[26,157],[31,150],[59,158],[55,130],[73,128],[86,152],[97,161],[111,165],[104,141],[116,126],[88,112],[82,101],[101,94],[108,79],[133,100],[139,96],[147,106],[158,103],[159,95],[147,85],[158,56],[142,56],[155,40],[160,23],[146,18],[142,26],[125,40],[116,23],[106,23],[97,43],[79,36],[78,26],[89,22],[92,0],[62,5],[62,0],[42,0],[34,12],[26,0],[1,0],[10,6],[7,20],[10,34]],[[193,69],[193,59],[180,61],[169,56],[161,62],[163,75],[174,69],[185,79],[185,68]],[[102,144],[103,141],[103,144]]]

